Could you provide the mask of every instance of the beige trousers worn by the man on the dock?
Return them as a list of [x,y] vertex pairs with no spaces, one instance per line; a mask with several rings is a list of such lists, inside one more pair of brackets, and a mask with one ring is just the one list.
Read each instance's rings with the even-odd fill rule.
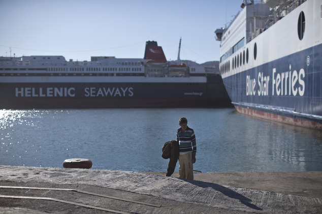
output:
[[179,178],[194,180],[194,166],[192,164],[192,152],[179,155]]

